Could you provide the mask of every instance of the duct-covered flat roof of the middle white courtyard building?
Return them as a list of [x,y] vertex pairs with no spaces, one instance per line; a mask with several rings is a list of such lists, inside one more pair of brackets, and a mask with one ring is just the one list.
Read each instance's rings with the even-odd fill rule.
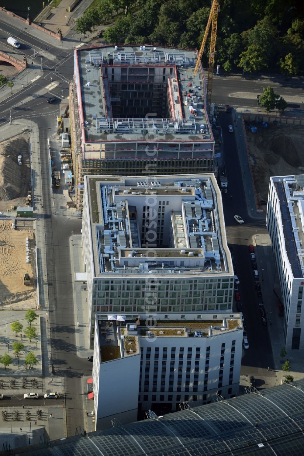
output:
[[[152,270],[161,275],[234,275],[213,174],[142,176],[141,181],[85,176],[85,181],[96,276]],[[155,220],[164,222],[165,245],[145,241],[151,202],[159,212]]]

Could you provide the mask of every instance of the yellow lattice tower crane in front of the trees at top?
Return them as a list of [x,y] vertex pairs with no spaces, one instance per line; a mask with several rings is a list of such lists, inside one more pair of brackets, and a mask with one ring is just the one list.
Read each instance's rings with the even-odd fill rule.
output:
[[212,22],[211,26],[211,40],[210,40],[210,53],[209,53],[209,68],[208,68],[208,80],[207,80],[207,103],[210,106],[211,103],[211,93],[212,93],[212,79],[213,79],[213,69],[214,69],[214,57],[215,57],[215,43],[216,43],[216,29],[217,29],[217,16],[218,16],[218,11],[219,11],[219,4],[218,0],[213,0],[212,5],[211,5],[211,10],[210,10],[210,15],[209,19],[206,25],[206,30],[204,33],[204,38],[201,43],[201,49],[200,52],[198,53],[198,58],[196,61],[196,66],[194,68],[193,75],[196,76],[198,72],[198,68],[201,63],[201,57],[203,55],[206,41],[207,41],[207,36],[209,33],[210,25]]

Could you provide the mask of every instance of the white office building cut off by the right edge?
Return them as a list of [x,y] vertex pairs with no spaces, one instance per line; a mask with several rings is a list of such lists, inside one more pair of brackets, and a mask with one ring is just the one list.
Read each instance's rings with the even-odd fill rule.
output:
[[283,295],[287,349],[303,349],[304,175],[271,177],[267,229]]

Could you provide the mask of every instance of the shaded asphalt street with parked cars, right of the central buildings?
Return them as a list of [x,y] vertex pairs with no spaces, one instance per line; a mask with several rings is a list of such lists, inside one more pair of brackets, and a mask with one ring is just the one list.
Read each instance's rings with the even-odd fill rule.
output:
[[[247,214],[237,143],[235,135],[228,132],[228,125],[233,125],[232,114],[221,112],[220,124],[228,179],[228,192],[222,194],[227,241],[232,247],[236,263],[235,272],[240,280],[239,293],[241,295],[249,343],[249,350],[243,351],[241,373],[257,375],[258,368],[267,369],[268,366],[274,368],[274,363],[268,327],[263,326],[261,321],[248,244],[251,244],[252,236],[256,233],[256,229],[258,229],[259,233],[267,233],[267,230],[263,216],[251,218]],[[236,214],[242,217],[244,224],[240,225],[234,220],[234,215]]]

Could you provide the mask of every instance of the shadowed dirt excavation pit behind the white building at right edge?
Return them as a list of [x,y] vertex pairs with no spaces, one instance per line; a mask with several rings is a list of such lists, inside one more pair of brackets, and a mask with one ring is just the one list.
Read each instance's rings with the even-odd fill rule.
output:
[[254,124],[258,131],[252,133],[249,124],[245,134],[257,198],[267,201],[270,176],[304,174],[304,129],[275,122],[267,128]]

